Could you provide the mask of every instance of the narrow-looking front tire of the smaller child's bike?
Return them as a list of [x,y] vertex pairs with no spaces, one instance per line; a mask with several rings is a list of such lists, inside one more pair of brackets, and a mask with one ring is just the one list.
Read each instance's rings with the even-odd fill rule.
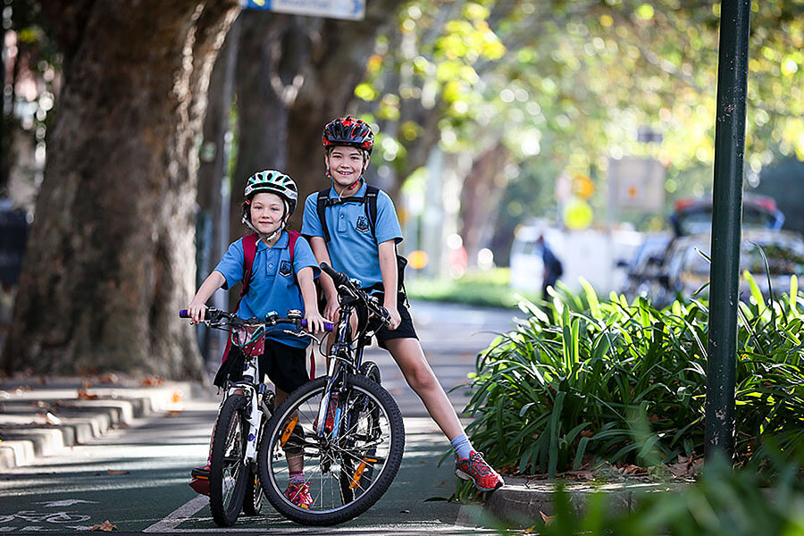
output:
[[215,423],[209,462],[209,509],[220,527],[229,527],[237,521],[246,495],[248,467],[243,456],[247,421],[242,414],[245,406],[246,397],[231,395],[223,403]]

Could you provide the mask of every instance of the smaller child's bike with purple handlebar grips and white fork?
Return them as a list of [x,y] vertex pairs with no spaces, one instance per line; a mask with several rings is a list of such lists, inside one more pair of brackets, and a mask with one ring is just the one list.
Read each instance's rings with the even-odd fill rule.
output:
[[[179,315],[188,318],[186,309]],[[297,337],[314,337],[302,331],[306,320],[296,309],[288,311],[287,318],[270,313],[263,320],[242,320],[236,314],[210,308],[204,322],[211,328],[230,331],[232,345],[245,356],[242,379],[227,381],[223,389],[210,445],[209,508],[215,524],[228,527],[237,521],[241,507],[246,515],[258,515],[263,506],[256,455],[274,406],[274,393],[259,370],[258,356],[263,353],[265,335],[284,331]],[[293,329],[289,330],[287,324]],[[327,331],[332,327],[325,323]]]

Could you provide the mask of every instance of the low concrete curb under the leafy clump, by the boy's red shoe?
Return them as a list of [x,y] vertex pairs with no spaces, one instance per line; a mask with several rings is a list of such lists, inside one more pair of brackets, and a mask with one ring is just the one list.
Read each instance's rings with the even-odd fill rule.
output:
[[[528,481],[525,478],[506,476],[506,485],[490,493],[483,510],[502,523],[516,527],[530,527],[542,523],[542,515],[554,515],[553,500],[557,482]],[[641,495],[656,492],[682,490],[684,482],[565,482],[564,490],[569,495],[575,512],[582,513],[591,496],[602,493],[609,509],[627,512],[639,502]]]

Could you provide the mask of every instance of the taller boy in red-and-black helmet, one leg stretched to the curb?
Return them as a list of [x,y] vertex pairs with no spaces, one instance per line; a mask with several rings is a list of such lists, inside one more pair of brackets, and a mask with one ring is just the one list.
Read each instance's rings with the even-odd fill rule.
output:
[[[317,193],[307,197],[302,235],[310,238],[319,263],[331,264],[380,297],[390,314],[390,325],[377,331],[377,342],[393,356],[408,385],[422,399],[455,449],[456,475],[473,480],[478,490],[496,490],[504,482],[466,438],[455,409],[424,357],[403,303],[405,296],[398,292],[397,244],[402,240],[402,231],[397,214],[388,194],[368,188],[363,179],[373,143],[373,132],[364,121],[348,116],[327,124],[322,144],[326,150],[327,178],[332,186],[321,202]],[[369,221],[372,211],[366,209],[367,192],[369,196],[376,196],[375,222]],[[326,228],[322,226],[320,215]],[[339,304],[335,285],[324,273],[319,282],[327,302],[324,316],[337,318]]]

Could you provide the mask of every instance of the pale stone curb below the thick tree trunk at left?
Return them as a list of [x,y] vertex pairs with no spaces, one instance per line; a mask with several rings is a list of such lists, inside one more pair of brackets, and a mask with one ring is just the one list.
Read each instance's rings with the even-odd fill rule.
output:
[[183,400],[204,390],[190,381],[84,385],[69,378],[36,386],[19,379],[0,382],[0,470],[102,437],[136,418],[180,410]]

